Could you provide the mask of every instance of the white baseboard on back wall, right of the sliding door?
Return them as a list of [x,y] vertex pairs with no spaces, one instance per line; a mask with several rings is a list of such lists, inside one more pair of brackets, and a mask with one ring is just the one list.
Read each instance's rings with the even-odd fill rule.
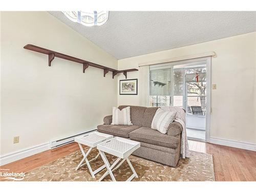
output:
[[230,139],[221,139],[216,137],[210,137],[209,143],[231,146],[236,148],[243,148],[244,150],[256,151],[256,144],[248,143],[248,142],[241,142],[235,141]]

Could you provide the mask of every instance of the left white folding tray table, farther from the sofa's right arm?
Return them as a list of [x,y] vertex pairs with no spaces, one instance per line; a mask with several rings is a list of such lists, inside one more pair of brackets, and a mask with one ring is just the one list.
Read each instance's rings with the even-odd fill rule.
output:
[[[101,142],[106,141],[106,140],[111,139],[111,138],[113,138],[113,135],[108,135],[108,134],[99,133],[99,132],[92,132],[92,133],[89,133],[89,134],[86,134],[86,135],[82,135],[82,136],[76,137],[75,138],[75,142],[78,143],[78,145],[80,147],[80,150],[82,152],[82,155],[83,155],[83,158],[80,161],[80,163],[77,165],[76,170],[78,168],[82,167],[83,165],[87,164],[92,177],[95,178],[94,175],[97,174],[98,172],[100,172],[100,170],[102,170],[105,167],[105,165],[102,165],[101,167],[99,167],[98,169],[94,170],[94,172],[93,172],[93,170],[91,168],[91,165],[90,165],[90,162],[95,160],[95,159],[97,159],[99,157],[99,153],[97,154],[97,156],[95,158],[91,159],[90,161],[88,161],[87,156],[90,154],[91,150],[94,147],[97,146],[98,143],[101,143]],[[90,146],[90,148],[87,151],[87,153],[85,153],[83,151],[83,148],[82,148],[81,144]],[[85,163],[83,163],[83,161],[85,161]]]

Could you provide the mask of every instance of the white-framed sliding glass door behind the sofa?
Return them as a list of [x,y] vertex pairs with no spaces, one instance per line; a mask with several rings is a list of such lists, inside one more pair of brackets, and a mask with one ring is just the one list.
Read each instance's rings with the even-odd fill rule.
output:
[[187,135],[196,140],[209,138],[209,73],[210,58],[150,66],[149,105],[183,108]]

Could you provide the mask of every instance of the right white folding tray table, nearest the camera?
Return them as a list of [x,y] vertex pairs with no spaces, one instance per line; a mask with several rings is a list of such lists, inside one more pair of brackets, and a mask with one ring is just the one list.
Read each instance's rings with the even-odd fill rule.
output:
[[[112,171],[117,169],[125,160],[129,164],[133,172],[133,175],[130,178],[128,178],[126,181],[131,181],[134,177],[138,178],[138,175],[135,172],[133,165],[129,160],[129,156],[139,147],[140,147],[139,142],[132,141],[130,139],[124,139],[121,137],[114,137],[108,141],[104,141],[102,143],[97,144],[97,149],[99,150],[101,158],[103,159],[105,166],[107,168],[106,172],[102,175],[99,181],[101,181],[104,177],[106,177],[109,174],[111,176],[111,179],[113,181],[116,181]],[[117,160],[112,165],[110,165],[108,159],[106,159],[104,152],[118,157]],[[115,165],[119,161],[120,163],[115,167]]]

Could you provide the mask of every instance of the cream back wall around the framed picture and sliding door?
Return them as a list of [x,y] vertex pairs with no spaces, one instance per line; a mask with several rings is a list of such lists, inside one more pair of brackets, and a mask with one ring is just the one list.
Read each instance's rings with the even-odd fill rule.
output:
[[[208,51],[217,53],[212,58],[212,84],[217,84],[217,90],[211,95],[210,137],[256,143],[256,32],[121,59],[118,70],[139,69],[141,62]],[[131,78],[139,81],[139,72],[129,73]],[[119,75],[120,79],[124,76]],[[118,90],[118,105],[139,105],[139,94],[119,95]]]

